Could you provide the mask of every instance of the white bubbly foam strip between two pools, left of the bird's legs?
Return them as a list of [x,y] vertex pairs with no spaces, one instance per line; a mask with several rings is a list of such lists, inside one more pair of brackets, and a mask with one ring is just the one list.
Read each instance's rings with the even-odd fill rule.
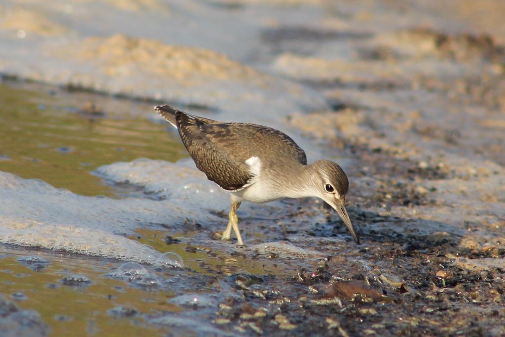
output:
[[[125,163],[118,163],[111,166],[110,170],[120,172],[124,165]],[[160,168],[159,165],[147,166],[153,172]],[[174,181],[178,180],[179,184],[174,182],[171,190],[170,182],[162,184],[155,182],[154,178],[148,186],[167,195],[173,191],[169,201],[85,197],[56,189],[39,180],[25,180],[0,172],[0,242],[154,263],[160,254],[149,246],[128,239],[126,235],[133,234],[136,228],[153,223],[177,226],[187,217],[199,221],[213,217],[202,211],[201,207],[187,207],[188,195],[194,194],[191,189],[196,186],[202,191],[201,194],[207,195],[204,197],[204,200],[209,201],[207,206],[212,204],[214,193],[209,191],[209,185],[202,183],[205,178],[195,175],[191,184],[187,181],[181,183],[180,177],[176,177],[180,174],[181,167],[173,164],[167,164],[167,167],[166,170],[158,171],[157,177],[166,175]],[[115,171],[114,168],[118,170]],[[107,169],[104,168],[103,171]],[[132,183],[139,182],[134,177],[142,179],[150,173],[148,170],[124,172]],[[111,173],[109,177],[113,176]],[[119,176],[118,173],[115,177]],[[227,207],[226,204],[227,198],[224,198],[222,208]]]

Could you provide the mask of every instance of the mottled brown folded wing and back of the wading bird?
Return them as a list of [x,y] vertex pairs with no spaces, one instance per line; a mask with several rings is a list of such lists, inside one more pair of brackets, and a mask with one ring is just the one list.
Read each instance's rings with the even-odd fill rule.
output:
[[221,123],[181,111],[175,114],[179,135],[196,167],[225,190],[240,190],[254,175],[245,163],[257,156],[267,166],[297,161],[307,156],[286,134],[261,125]]

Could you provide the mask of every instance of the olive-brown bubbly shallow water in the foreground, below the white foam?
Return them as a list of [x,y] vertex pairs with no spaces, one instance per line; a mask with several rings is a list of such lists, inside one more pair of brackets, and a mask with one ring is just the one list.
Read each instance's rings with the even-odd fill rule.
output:
[[[205,320],[219,303],[243,301],[237,289],[263,283],[260,275],[275,278],[296,273],[296,265],[282,261],[260,261],[244,254],[230,256],[219,247],[191,246],[191,236],[190,232],[175,234],[171,239],[177,243],[170,245],[164,231],[138,230],[131,237],[161,253],[170,252],[172,258],[184,261],[183,268],[1,245],[2,293],[19,310],[36,308],[38,324],[48,326],[52,335],[165,335],[186,329],[201,334],[208,333],[209,326],[157,322],[180,321],[183,316],[174,318],[171,313],[188,309],[192,319]],[[38,333],[43,335],[43,331]],[[226,335],[225,330],[213,333]]]

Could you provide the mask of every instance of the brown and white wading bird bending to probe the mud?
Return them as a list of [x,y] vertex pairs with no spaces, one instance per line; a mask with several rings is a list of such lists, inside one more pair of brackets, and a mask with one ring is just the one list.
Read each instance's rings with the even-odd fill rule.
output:
[[228,226],[221,240],[243,241],[237,209],[242,201],[265,203],[283,198],[318,197],[336,210],[352,238],[360,243],[345,209],[349,181],[337,163],[307,155],[288,135],[250,123],[225,123],[193,116],[169,105],[156,111],[177,128],[196,167],[230,193]]

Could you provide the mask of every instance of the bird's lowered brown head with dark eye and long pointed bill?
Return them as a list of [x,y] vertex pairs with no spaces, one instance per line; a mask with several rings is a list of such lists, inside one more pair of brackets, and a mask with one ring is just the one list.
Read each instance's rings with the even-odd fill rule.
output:
[[311,164],[313,169],[318,173],[312,181],[317,195],[335,209],[345,223],[352,238],[356,243],[360,243],[360,239],[356,235],[349,215],[345,209],[345,195],[349,189],[349,181],[342,167],[330,160],[318,160]]

